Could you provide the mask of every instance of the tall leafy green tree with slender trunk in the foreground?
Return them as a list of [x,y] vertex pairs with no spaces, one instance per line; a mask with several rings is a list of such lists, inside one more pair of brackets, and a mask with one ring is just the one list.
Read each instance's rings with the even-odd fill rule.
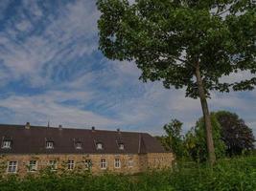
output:
[[251,4],[250,0],[97,1],[102,13],[100,49],[106,57],[134,61],[144,82],[161,80],[165,88],[186,87],[186,96],[199,97],[211,163],[216,156],[207,97],[211,90],[228,91],[220,77],[244,61],[237,57],[249,54],[246,47],[251,41],[239,44],[237,38],[255,35],[248,32],[254,19]]

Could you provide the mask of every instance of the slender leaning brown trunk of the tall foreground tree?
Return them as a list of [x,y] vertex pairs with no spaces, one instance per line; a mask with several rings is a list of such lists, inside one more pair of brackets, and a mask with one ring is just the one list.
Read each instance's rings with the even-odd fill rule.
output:
[[214,142],[212,134],[212,122],[209,114],[208,104],[205,96],[205,91],[203,88],[203,83],[200,74],[199,63],[196,65],[196,77],[198,83],[198,94],[201,102],[201,109],[204,117],[205,129],[206,129],[206,142],[208,150],[208,158],[211,164],[216,161],[215,151],[214,151]]

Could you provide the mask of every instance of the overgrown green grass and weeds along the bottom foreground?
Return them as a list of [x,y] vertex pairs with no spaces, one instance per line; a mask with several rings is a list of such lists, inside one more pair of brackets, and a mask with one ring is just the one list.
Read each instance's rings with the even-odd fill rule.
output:
[[0,180],[0,191],[256,191],[256,157],[221,159],[214,168],[179,162],[173,169],[136,176],[42,173]]

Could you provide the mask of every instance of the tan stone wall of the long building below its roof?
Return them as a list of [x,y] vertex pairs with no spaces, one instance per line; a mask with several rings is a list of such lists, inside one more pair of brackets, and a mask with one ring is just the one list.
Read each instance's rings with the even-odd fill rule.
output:
[[[1,155],[0,156],[0,173],[7,173],[7,167],[9,161],[17,161],[17,173],[19,175],[25,175],[29,172],[30,160],[36,160],[38,172],[41,169],[49,166],[49,160],[56,160],[58,171],[67,170],[67,161],[74,160],[74,170],[87,170],[85,166],[85,160],[90,159],[92,161],[91,172],[95,174],[103,173],[106,171],[116,173],[128,173],[134,174],[145,171],[152,168],[165,168],[171,167],[174,156],[172,153],[152,153],[152,154],[131,154],[131,155],[114,155],[114,154],[90,154],[90,155]],[[106,160],[106,169],[101,168],[101,160]],[[119,168],[114,166],[115,159],[120,159],[121,165]],[[129,160],[130,159],[130,160]],[[129,162],[128,160],[132,161]],[[34,172],[34,173],[36,173]]]

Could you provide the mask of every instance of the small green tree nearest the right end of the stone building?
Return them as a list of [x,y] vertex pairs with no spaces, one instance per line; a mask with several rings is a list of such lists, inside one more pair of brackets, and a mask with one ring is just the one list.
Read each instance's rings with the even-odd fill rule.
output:
[[182,122],[173,119],[170,123],[164,125],[166,136],[162,137],[162,143],[167,150],[172,150],[177,159],[183,157],[183,136],[181,135]]

